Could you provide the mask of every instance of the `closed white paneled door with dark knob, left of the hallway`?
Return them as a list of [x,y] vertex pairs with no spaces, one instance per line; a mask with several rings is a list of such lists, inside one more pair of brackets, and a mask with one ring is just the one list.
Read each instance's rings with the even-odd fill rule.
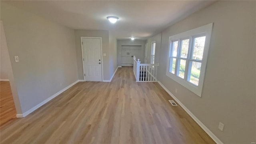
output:
[[101,39],[82,38],[84,80],[102,81]]

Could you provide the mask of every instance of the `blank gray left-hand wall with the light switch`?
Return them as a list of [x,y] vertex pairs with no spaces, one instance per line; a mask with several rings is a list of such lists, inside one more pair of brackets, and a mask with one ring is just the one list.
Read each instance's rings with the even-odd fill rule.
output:
[[22,113],[78,80],[74,30],[2,1],[1,20]]

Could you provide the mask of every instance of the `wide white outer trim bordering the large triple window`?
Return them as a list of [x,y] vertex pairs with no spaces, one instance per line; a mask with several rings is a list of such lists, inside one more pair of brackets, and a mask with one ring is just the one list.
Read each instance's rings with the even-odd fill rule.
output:
[[[201,26],[199,28],[195,28],[192,30],[188,30],[186,32],[182,32],[180,34],[176,34],[174,36],[169,37],[169,55],[168,55],[168,61],[167,61],[167,67],[166,67],[166,76],[172,78],[188,90],[194,92],[198,96],[202,96],[202,88],[203,88],[203,83],[204,83],[204,75],[205,75],[205,70],[206,70],[206,63],[207,63],[207,57],[208,57],[208,50],[210,46],[210,39],[211,39],[211,33],[212,33],[212,25],[213,23],[207,24],[205,26]],[[203,58],[202,58],[202,64],[201,64],[201,70],[200,70],[200,78],[199,78],[199,83],[198,86],[188,82],[185,78],[180,78],[179,76],[176,76],[175,74],[172,74],[169,72],[170,68],[170,52],[171,52],[171,42],[174,40],[180,40],[184,38],[190,38],[190,42],[192,40],[192,36],[195,35],[200,35],[200,34],[205,34],[206,40],[205,40],[205,45],[204,45],[204,53],[203,53]],[[176,59],[177,60],[177,59]],[[187,61],[188,62],[188,61]]]

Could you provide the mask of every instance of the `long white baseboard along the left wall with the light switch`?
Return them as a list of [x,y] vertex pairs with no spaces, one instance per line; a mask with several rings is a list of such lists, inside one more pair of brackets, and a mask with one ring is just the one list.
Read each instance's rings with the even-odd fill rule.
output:
[[47,102],[49,102],[50,100],[52,100],[53,98],[55,98],[56,96],[58,96],[59,94],[61,94],[65,90],[67,90],[68,88],[70,88],[71,86],[74,86],[78,82],[79,82],[79,80],[77,80],[76,82],[73,82],[72,84],[70,84],[66,88],[64,88],[64,89],[60,90],[59,92],[57,92],[56,94],[50,96],[46,100],[42,101],[40,104],[38,104],[38,105],[34,106],[33,108],[31,108],[30,110],[24,112],[23,114],[16,114],[16,117],[17,118],[23,118],[23,117],[27,116],[28,114],[30,114],[31,112],[34,112],[34,110],[40,108],[42,105],[46,104]]

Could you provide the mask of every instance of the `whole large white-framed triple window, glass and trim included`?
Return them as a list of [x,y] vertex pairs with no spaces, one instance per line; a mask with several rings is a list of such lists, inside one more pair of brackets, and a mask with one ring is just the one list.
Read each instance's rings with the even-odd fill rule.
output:
[[166,75],[201,97],[212,23],[169,37]]

